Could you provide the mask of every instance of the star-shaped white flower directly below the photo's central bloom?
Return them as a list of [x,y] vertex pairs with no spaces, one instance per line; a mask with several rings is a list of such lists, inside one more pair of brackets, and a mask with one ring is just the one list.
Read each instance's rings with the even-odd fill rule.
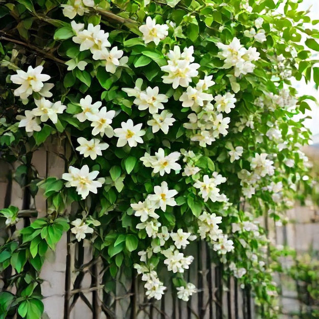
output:
[[148,199],[154,204],[154,208],[161,208],[166,211],[166,206],[176,206],[176,201],[174,196],[177,195],[176,190],[169,190],[166,181],[161,183],[161,186],[156,185],[154,187],[154,194],[148,195]]

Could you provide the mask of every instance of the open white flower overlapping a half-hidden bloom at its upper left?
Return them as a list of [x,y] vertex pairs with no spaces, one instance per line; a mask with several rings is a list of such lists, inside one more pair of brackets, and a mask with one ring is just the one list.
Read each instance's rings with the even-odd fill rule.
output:
[[147,110],[150,114],[158,113],[159,109],[164,109],[163,103],[168,101],[168,97],[165,94],[158,94],[158,87],[147,87],[145,91],[142,91],[134,100],[134,104],[138,105],[140,111]]

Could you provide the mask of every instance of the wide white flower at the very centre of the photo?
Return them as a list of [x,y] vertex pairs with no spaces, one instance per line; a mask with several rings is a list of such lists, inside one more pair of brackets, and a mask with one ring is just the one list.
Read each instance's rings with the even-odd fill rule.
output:
[[181,166],[176,163],[179,157],[179,152],[172,152],[165,156],[164,149],[159,148],[155,152],[155,156],[150,156],[146,152],[140,159],[146,167],[153,168],[153,173],[159,173],[159,175],[163,176],[165,173],[169,174],[171,170],[179,171],[181,169]]

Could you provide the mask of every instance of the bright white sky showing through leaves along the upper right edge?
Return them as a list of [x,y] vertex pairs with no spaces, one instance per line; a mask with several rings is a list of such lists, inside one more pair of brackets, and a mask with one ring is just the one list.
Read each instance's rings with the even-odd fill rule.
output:
[[[319,0],[304,0],[299,8],[301,10],[308,10],[310,8],[310,12],[308,15],[312,20],[318,19],[319,15]],[[315,28],[319,28],[318,24],[314,26]],[[314,88],[314,82],[305,84],[304,82],[300,82],[296,84],[297,90],[300,94],[306,94],[315,96],[319,101],[319,91]],[[312,110],[308,111],[306,115],[311,116],[311,119],[307,119],[305,121],[305,126],[308,127],[313,135],[319,134],[319,107],[315,102],[309,101],[309,105]]]

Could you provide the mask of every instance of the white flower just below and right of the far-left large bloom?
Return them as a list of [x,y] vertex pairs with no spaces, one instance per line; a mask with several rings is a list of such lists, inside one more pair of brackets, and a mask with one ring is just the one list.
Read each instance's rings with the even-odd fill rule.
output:
[[62,114],[66,110],[66,106],[61,103],[61,101],[52,103],[42,97],[40,100],[34,100],[37,105],[36,109],[32,110],[35,116],[40,116],[41,122],[46,122],[48,119],[52,123],[56,124],[58,122],[58,114]]

